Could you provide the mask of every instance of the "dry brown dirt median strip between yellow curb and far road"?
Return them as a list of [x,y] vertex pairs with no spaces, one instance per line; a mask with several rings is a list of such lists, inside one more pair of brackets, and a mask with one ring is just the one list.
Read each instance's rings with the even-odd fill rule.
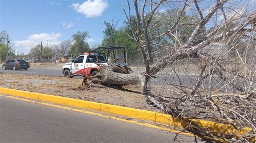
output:
[[140,85],[126,85],[120,89],[91,88],[81,90],[83,78],[5,73],[0,73],[0,78],[0,87],[4,88],[156,111],[147,106],[146,97],[140,94]]

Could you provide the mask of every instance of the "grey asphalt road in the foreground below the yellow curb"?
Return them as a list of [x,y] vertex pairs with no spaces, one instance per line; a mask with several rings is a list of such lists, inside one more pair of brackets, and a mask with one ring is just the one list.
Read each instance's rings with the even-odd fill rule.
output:
[[[172,132],[0,96],[0,142],[174,142]],[[181,142],[193,137],[179,135]],[[176,141],[175,141],[176,142]]]

